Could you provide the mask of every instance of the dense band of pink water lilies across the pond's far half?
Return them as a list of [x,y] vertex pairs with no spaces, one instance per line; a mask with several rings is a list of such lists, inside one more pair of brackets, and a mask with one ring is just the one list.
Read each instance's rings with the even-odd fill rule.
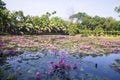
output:
[[38,51],[45,49],[54,53],[66,51],[68,53],[104,54],[119,53],[120,40],[118,38],[96,38],[80,36],[1,36],[0,53],[4,50],[21,48],[21,50]]

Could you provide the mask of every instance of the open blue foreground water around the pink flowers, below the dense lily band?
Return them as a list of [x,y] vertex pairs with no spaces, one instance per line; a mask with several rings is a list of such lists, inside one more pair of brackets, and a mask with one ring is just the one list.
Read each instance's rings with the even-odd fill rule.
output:
[[[51,62],[59,63],[61,58],[71,66],[64,74],[54,71],[50,73]],[[73,69],[74,63],[77,68]],[[0,80],[37,80],[36,72],[40,72],[40,80],[120,80],[120,54],[87,55],[58,53],[40,50],[37,53],[25,51],[23,54],[8,56],[0,60]],[[66,78],[66,76],[69,78]],[[14,78],[14,79],[11,79]],[[17,78],[17,79],[16,79]]]

